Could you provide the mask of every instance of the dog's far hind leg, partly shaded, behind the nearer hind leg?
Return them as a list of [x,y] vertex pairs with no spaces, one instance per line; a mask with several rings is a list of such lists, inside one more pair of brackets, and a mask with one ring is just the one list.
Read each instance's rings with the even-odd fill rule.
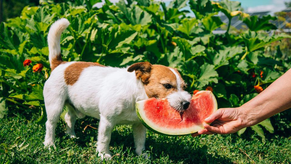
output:
[[76,112],[75,109],[70,106],[68,103],[65,104],[68,109],[68,112],[65,115],[66,125],[66,133],[70,136],[70,138],[76,138],[74,126],[76,122]]

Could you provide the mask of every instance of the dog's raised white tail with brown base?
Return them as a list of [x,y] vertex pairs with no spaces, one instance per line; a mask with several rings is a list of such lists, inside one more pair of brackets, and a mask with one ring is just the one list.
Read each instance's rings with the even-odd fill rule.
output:
[[61,56],[61,46],[60,46],[60,38],[62,32],[70,25],[70,22],[66,18],[62,18],[57,20],[50,27],[49,34],[47,36],[47,43],[49,45],[49,60],[50,60],[50,68],[53,70],[58,65],[63,62]]

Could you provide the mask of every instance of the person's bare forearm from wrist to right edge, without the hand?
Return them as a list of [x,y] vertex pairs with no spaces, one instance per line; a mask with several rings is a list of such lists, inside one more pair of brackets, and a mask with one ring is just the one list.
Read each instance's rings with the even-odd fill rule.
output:
[[291,108],[291,69],[238,108],[245,113],[245,126],[249,127]]

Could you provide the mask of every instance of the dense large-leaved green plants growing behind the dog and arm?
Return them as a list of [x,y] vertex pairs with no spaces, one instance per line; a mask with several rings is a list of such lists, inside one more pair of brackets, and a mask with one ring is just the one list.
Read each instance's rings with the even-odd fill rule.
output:
[[[39,113],[36,122],[46,121],[42,95],[50,75],[46,37],[50,25],[62,17],[71,23],[61,37],[64,61],[117,67],[149,61],[177,68],[189,92],[210,86],[219,107],[240,106],[258,94],[254,86],[265,89],[291,67],[291,56],[278,44],[290,36],[266,33],[276,30],[269,23],[276,17],[250,17],[241,11],[239,2],[174,0],[166,6],[147,0],[115,5],[105,1],[102,8],[92,9],[96,2],[41,1],[40,6],[26,6],[19,17],[1,23],[0,117]],[[185,6],[190,6],[196,18],[187,16]],[[218,12],[230,20],[238,16],[248,28],[232,29],[214,16]],[[227,32],[214,35],[213,30],[221,26]],[[33,63],[24,67],[25,59]],[[44,66],[41,72],[32,71],[37,63]],[[290,135],[289,118],[287,110],[249,130],[256,131],[262,142],[266,133]]]

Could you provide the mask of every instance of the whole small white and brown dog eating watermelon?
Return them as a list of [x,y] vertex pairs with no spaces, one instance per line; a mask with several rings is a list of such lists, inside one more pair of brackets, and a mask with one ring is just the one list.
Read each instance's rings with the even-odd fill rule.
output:
[[139,100],[166,98],[177,110],[186,110],[191,96],[176,69],[139,62],[126,68],[103,66],[93,62],[62,60],[60,36],[70,22],[59,19],[48,33],[49,61],[52,70],[43,88],[47,114],[45,146],[54,146],[56,124],[64,106],[66,133],[75,138],[76,118],[91,116],[100,120],[97,148],[101,159],[110,159],[111,132],[117,124],[131,124],[135,152],[145,150],[146,128],[135,113]]

